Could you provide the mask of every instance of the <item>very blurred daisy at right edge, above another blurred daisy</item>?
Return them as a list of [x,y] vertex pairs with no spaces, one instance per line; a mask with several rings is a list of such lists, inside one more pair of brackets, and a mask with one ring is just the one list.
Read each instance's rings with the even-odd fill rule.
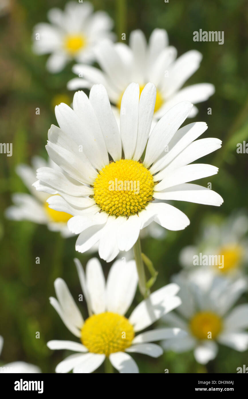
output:
[[[240,277],[242,267],[248,262],[248,217],[243,211],[232,213],[221,223],[209,221],[197,239],[197,245],[189,245],[179,255],[180,263],[187,269],[209,269],[212,273],[227,277]],[[195,257],[201,254],[202,265],[194,265]],[[205,256],[205,259],[203,258]],[[218,257],[209,265],[211,256]],[[213,258],[214,259],[214,258]],[[207,263],[207,265],[206,265]]]

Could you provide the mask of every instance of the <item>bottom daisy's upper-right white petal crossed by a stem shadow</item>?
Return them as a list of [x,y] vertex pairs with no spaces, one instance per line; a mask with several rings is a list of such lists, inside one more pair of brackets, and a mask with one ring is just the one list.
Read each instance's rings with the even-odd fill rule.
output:
[[133,324],[134,330],[143,330],[170,310],[179,306],[181,300],[175,296],[178,290],[177,284],[168,284],[143,300],[129,317],[129,322]]

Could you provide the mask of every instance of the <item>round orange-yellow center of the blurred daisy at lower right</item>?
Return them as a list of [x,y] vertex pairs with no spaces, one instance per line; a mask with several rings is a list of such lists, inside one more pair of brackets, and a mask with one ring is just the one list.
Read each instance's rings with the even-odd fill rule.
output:
[[216,338],[222,330],[222,320],[213,312],[199,312],[190,320],[189,328],[200,340]]

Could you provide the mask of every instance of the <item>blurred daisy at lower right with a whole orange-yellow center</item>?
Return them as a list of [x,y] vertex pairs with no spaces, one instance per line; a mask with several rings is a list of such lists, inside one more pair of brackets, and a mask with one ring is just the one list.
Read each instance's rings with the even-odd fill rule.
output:
[[209,274],[198,271],[179,273],[173,282],[180,286],[182,304],[178,312],[163,317],[169,324],[185,330],[188,335],[180,340],[164,341],[166,350],[177,353],[194,350],[198,363],[206,364],[216,357],[217,343],[237,351],[248,349],[248,304],[232,309],[247,289],[244,279],[232,282],[225,277],[209,279]]

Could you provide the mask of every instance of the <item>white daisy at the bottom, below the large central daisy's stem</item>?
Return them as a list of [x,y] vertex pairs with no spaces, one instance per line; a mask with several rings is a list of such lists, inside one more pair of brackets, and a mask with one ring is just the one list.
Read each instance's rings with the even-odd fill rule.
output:
[[139,373],[139,369],[130,354],[137,352],[157,358],[163,350],[152,342],[161,339],[184,337],[180,328],[160,328],[144,330],[164,314],[180,305],[176,296],[177,284],[168,284],[153,292],[131,313],[125,314],[135,296],[137,271],[135,261],[123,263],[117,260],[111,266],[107,282],[98,259],[91,259],[86,265],[86,274],[78,261],[74,259],[84,299],[88,306],[89,317],[84,321],[64,280],[55,280],[57,299],[50,298],[51,305],[62,321],[81,342],[49,341],[47,346],[53,350],[71,350],[76,352],[61,361],[55,369],[57,373],[91,373],[105,358],[120,373]]

